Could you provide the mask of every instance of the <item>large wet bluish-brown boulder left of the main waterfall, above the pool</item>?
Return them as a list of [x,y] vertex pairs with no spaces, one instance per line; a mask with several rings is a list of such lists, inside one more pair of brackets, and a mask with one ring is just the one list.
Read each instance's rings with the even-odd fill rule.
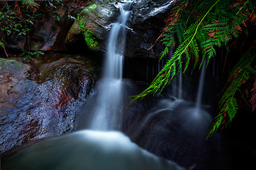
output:
[[0,152],[73,131],[76,112],[95,81],[88,63],[67,58],[38,67],[0,63]]

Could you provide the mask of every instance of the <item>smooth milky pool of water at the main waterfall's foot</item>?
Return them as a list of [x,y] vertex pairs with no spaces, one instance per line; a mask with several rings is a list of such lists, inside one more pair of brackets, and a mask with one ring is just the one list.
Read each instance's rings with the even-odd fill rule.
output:
[[87,170],[183,170],[137,147],[121,132],[82,130],[38,142],[2,157],[2,168]]

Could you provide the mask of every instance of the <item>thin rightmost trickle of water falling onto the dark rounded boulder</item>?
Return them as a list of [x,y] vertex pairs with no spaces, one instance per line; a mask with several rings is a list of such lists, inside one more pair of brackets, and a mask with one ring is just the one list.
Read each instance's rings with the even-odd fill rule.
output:
[[202,102],[202,95],[203,95],[203,83],[204,83],[204,77],[206,74],[206,60],[203,61],[202,64],[202,71],[199,79],[199,86],[198,86],[198,93],[196,96],[196,113],[199,112]]

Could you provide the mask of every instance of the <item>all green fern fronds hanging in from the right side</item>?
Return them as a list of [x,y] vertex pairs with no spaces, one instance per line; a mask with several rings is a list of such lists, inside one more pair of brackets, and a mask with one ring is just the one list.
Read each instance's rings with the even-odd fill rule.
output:
[[[161,93],[181,70],[184,73],[189,66],[192,66],[192,69],[200,68],[204,60],[208,63],[216,56],[216,51],[220,50],[220,47],[229,49],[236,42],[235,40],[238,40],[239,35],[256,23],[256,1],[176,0],[174,4],[176,7],[166,19],[166,27],[158,38],[165,45],[160,60],[166,57],[172,45],[176,49],[174,55],[166,62],[149,87],[134,96],[133,101],[149,94]],[[213,121],[208,137],[222,125],[223,127],[230,125],[233,120],[239,107],[235,94],[240,91],[242,84],[255,81],[255,68],[252,67],[254,58],[255,42],[250,43],[249,48],[243,52],[238,64],[230,73],[223,97],[218,104],[218,115]],[[247,91],[253,93],[250,102],[255,109],[256,90],[247,89]]]

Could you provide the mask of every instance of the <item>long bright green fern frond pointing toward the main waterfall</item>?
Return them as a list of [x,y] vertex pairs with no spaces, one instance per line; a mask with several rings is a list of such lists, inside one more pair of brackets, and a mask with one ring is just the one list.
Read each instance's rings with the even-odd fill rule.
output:
[[[215,4],[217,4],[218,1],[215,1]],[[213,4],[213,6],[215,6],[215,4]],[[159,74],[156,75],[156,78],[152,81],[149,87],[144,91],[142,91],[141,94],[134,96],[134,99],[132,100],[132,102],[137,100],[138,98],[144,98],[144,96],[148,94],[156,94],[157,91],[161,93],[161,91],[171,82],[171,80],[174,79],[174,77],[178,76],[178,74],[180,74],[182,69],[181,60],[182,60],[183,54],[186,54],[185,55],[186,64],[185,64],[185,69],[183,69],[183,72],[186,72],[186,69],[188,67],[188,62],[190,61],[190,57],[188,55],[188,49],[192,48],[193,54],[198,55],[198,43],[196,42],[196,34],[198,33],[198,30],[201,28],[201,23],[203,22],[203,19],[206,18],[206,16],[210,12],[210,10],[213,8],[213,6],[211,6],[208,9],[208,11],[205,13],[205,15],[203,16],[203,18],[201,18],[200,21],[193,23],[186,30],[185,33],[182,33],[182,35],[181,34],[179,35],[179,33],[180,31],[183,30],[181,29],[183,27],[178,27],[176,30],[170,29],[172,33],[177,33],[179,40],[183,40],[183,38],[186,38],[186,39],[183,40],[181,45],[177,47],[173,57],[171,57],[171,59],[168,62],[166,62],[166,64],[164,65],[164,68],[161,69]],[[178,24],[179,26],[182,26],[183,22]],[[166,54],[166,52],[164,52],[163,54]]]

